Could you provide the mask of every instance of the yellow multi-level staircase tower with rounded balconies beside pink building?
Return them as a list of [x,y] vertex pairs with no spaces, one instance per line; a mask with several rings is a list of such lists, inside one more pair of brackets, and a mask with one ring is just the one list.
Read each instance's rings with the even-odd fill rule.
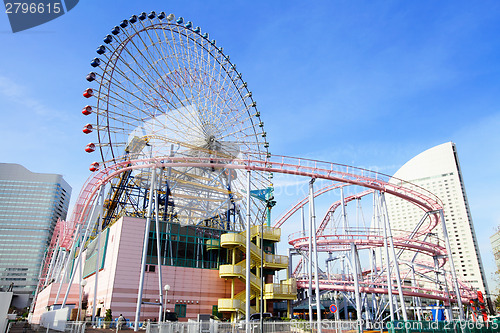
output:
[[[281,238],[281,229],[269,226],[253,226],[251,228],[250,243],[250,300],[255,300],[251,306],[252,313],[260,312],[261,281],[271,279],[278,270],[286,269],[288,276],[288,257],[274,254],[274,243]],[[235,292],[235,280],[246,280],[246,232],[227,233],[221,235],[220,246],[228,249],[230,265],[219,267],[219,277],[232,279],[231,298],[221,298],[218,301],[218,311],[231,313],[231,321],[245,314],[245,290]],[[261,269],[262,267],[262,269]],[[280,283],[263,283],[262,312],[267,312],[266,304],[269,300],[294,300],[297,298],[297,284],[295,279],[282,280]]]

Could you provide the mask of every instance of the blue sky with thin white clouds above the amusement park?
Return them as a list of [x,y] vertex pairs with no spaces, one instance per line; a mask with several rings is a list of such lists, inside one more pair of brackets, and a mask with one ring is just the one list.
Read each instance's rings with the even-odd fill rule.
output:
[[[150,10],[183,16],[224,47],[274,154],[392,174],[455,142],[483,263],[494,272],[500,2],[82,0],[16,34],[1,14],[2,162],[61,173],[76,197],[97,159],[83,151],[91,140],[81,132],[89,62],[113,26]],[[277,213],[293,200],[281,201]]]

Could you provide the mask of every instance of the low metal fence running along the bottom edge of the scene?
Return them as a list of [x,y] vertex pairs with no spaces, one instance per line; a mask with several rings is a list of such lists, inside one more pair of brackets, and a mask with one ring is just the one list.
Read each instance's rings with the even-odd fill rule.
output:
[[[16,327],[17,326],[17,327]],[[244,321],[229,323],[215,320],[210,321],[188,321],[188,322],[140,322],[138,330],[144,333],[317,333],[319,331],[316,321],[251,321],[247,324]],[[133,322],[125,322],[118,327],[114,322],[99,322],[94,325],[90,322],[66,322],[66,326],[43,327],[30,325],[29,329],[20,324],[9,325],[8,333],[96,333],[114,331],[134,331]],[[321,333],[496,333],[500,332],[500,323],[474,322],[474,321],[394,321],[386,323],[365,323],[363,321],[321,321]],[[127,332],[121,332],[127,333]]]

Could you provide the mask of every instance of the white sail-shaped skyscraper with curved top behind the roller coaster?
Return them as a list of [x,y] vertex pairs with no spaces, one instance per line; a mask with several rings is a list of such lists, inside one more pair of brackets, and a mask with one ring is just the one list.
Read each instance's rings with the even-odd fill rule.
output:
[[[457,276],[466,285],[488,293],[455,144],[443,143],[420,153],[403,165],[394,178],[421,186],[441,199]],[[392,228],[413,230],[422,211],[393,196],[387,198]],[[441,227],[435,233],[443,239]]]

